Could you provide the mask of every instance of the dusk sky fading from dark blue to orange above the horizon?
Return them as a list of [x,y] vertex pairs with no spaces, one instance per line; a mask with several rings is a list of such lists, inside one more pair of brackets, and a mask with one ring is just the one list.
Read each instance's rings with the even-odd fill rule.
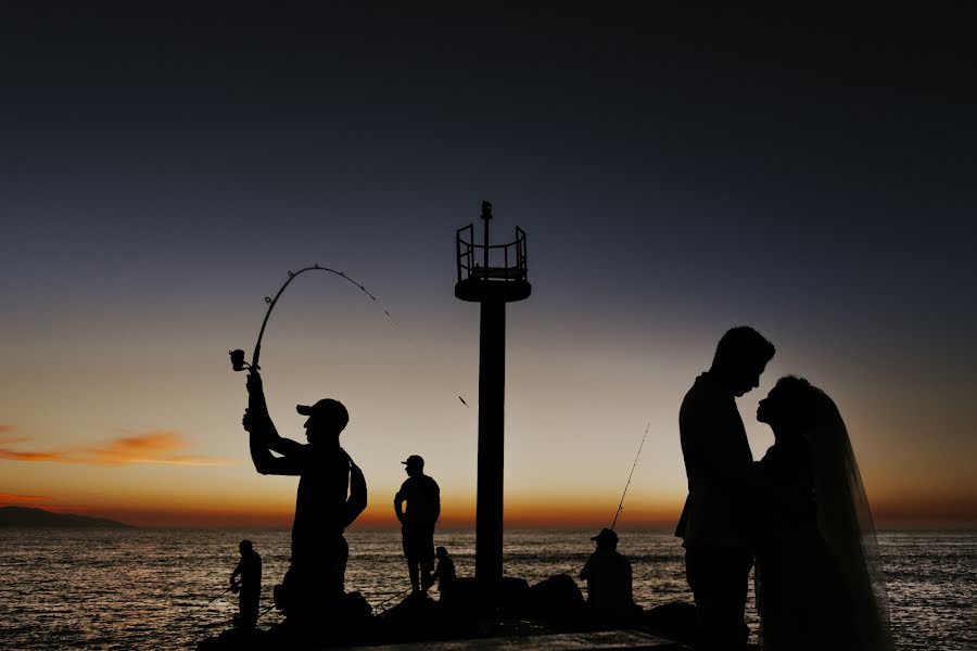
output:
[[[21,3],[25,4],[25,3]],[[883,526],[977,522],[977,127],[952,5],[38,2],[0,9],[0,505],[288,526],[271,414],[341,399],[356,526],[399,461],[474,513],[478,306],[454,238],[526,232],[506,520],[671,526],[677,409],[731,327],[838,404]],[[922,13],[922,12],[926,13]],[[918,13],[914,13],[918,12]],[[943,13],[939,13],[943,12]],[[497,238],[497,239],[496,239]],[[391,318],[384,314],[388,310]],[[458,396],[468,403],[466,407]]]

